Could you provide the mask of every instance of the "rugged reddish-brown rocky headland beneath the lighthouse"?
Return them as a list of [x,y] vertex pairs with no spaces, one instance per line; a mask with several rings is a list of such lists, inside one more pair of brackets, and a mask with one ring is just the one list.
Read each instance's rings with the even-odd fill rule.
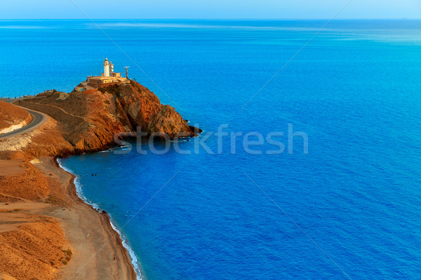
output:
[[[115,134],[138,128],[149,134],[168,134],[171,139],[195,135],[175,109],[163,106],[153,92],[134,81],[71,92],[65,98],[47,94],[17,104],[57,120],[57,130],[74,149],[66,151],[65,147],[63,153],[100,151],[115,145]],[[41,151],[57,155],[48,152],[48,147]]]

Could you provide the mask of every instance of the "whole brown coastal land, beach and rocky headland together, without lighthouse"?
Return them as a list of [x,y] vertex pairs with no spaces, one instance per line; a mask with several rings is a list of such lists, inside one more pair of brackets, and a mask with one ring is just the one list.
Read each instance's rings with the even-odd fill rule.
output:
[[[15,104],[45,113],[48,120],[0,139],[0,279],[136,279],[107,214],[79,199],[74,176],[55,159],[115,146],[116,134],[137,128],[170,138],[200,131],[133,81]],[[0,103],[0,125],[28,116]]]

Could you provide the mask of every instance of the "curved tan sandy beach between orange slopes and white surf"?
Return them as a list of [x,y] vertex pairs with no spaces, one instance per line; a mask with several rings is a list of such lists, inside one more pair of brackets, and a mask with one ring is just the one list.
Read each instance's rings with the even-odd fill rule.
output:
[[99,213],[78,197],[74,175],[61,169],[55,159],[41,161],[39,169],[60,181],[60,191],[72,205],[64,211],[51,209],[49,213],[60,221],[74,251],[72,261],[60,272],[60,279],[136,279],[128,252],[107,214]]

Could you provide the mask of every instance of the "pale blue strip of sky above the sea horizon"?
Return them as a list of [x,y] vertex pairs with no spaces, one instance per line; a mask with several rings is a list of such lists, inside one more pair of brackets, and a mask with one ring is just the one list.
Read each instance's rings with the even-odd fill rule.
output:
[[421,18],[421,0],[0,0],[0,19],[325,19],[348,2],[336,18]]

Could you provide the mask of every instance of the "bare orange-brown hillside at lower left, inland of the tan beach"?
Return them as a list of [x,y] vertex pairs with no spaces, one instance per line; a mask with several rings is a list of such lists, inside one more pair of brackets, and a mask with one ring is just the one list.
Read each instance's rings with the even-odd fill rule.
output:
[[0,272],[17,279],[54,279],[71,260],[60,223],[44,215],[50,187],[24,153],[0,152]]

